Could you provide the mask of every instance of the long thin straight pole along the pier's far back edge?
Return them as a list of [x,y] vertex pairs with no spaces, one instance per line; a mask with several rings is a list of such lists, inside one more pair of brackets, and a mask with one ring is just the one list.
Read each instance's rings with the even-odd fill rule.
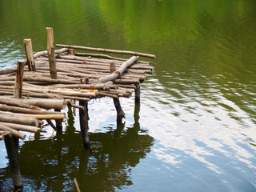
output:
[[138,52],[128,51],[128,50],[110,50],[110,49],[93,48],[93,47],[86,47],[86,46],[70,46],[70,45],[62,45],[62,44],[57,44],[56,46],[72,48],[77,50],[93,50],[93,51],[104,52],[104,53],[131,54],[131,55],[136,55],[136,56],[141,56],[146,58],[156,58],[154,54],[143,54],[143,53],[138,53]]

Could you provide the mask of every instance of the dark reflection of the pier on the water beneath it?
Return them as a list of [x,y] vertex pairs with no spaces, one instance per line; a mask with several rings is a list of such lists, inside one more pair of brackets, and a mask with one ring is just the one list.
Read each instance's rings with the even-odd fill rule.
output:
[[[135,109],[136,111],[136,109]],[[132,185],[131,168],[146,158],[154,138],[138,134],[138,111],[134,127],[124,130],[120,123],[114,131],[90,133],[91,149],[82,147],[81,134],[75,131],[72,111],[68,111],[66,132],[55,138],[23,144],[19,154],[23,191],[115,191]],[[1,191],[11,191],[9,169],[0,169]]]

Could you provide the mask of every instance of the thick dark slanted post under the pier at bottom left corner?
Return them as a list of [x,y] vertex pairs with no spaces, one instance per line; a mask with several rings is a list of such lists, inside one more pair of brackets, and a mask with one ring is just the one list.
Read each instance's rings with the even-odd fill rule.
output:
[[10,162],[10,172],[14,182],[14,190],[22,190],[22,176],[19,170],[18,157],[14,146],[14,139],[9,135],[5,136],[6,151]]

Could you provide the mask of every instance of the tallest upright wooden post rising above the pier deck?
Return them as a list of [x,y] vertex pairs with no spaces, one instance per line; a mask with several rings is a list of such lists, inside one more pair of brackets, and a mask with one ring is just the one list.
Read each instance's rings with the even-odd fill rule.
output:
[[57,68],[56,68],[56,59],[54,53],[54,30],[52,27],[46,27],[47,31],[47,50],[50,66],[50,78],[57,79]]

